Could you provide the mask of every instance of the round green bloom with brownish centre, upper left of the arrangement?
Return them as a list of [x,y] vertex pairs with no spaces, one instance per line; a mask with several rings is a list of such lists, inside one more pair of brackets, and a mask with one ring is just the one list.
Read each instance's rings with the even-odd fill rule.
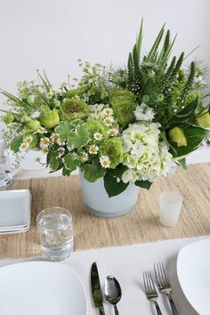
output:
[[72,120],[77,118],[85,118],[88,116],[88,105],[85,101],[67,99],[63,102],[63,119]]

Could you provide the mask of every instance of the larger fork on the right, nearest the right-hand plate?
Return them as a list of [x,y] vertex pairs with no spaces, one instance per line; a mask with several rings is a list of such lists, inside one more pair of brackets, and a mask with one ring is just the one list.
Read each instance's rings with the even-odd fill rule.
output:
[[179,315],[178,311],[176,310],[171,292],[172,292],[172,287],[170,285],[168,276],[166,274],[166,270],[164,268],[163,263],[155,263],[154,264],[154,271],[155,271],[155,276],[157,280],[157,285],[158,285],[158,290],[162,293],[164,293],[167,296],[167,299],[171,305],[172,312],[174,315]]

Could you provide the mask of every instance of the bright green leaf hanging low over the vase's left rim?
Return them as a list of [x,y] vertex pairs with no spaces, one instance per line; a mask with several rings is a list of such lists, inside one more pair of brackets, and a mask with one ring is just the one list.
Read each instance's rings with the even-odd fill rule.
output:
[[101,168],[100,163],[94,159],[92,164],[82,166],[82,170],[84,171],[84,178],[88,182],[97,181],[106,172],[104,168]]

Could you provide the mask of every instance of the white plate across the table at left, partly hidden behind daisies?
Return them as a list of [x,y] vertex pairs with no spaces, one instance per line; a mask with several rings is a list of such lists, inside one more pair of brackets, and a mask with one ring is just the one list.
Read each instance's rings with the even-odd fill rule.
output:
[[[9,153],[9,158],[11,161],[11,165],[15,166],[15,154],[11,151],[8,150]],[[46,155],[42,153],[41,151],[36,151],[36,150],[28,150],[27,153],[23,153],[22,156],[24,158],[20,159],[20,166],[19,168],[22,170],[39,170],[39,169],[44,169],[46,166],[43,165],[46,163]],[[36,158],[41,158],[41,163],[36,162]]]

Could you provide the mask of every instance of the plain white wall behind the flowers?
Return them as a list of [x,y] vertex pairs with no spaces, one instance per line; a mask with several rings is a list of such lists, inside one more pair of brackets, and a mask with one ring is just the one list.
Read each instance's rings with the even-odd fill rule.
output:
[[[144,17],[147,51],[166,22],[178,33],[174,52],[210,65],[209,0],[0,0],[0,87],[45,69],[54,85],[79,76],[77,59],[124,65]],[[190,59],[189,59],[190,62]],[[3,98],[0,97],[2,107]],[[0,125],[1,131],[2,125]]]

